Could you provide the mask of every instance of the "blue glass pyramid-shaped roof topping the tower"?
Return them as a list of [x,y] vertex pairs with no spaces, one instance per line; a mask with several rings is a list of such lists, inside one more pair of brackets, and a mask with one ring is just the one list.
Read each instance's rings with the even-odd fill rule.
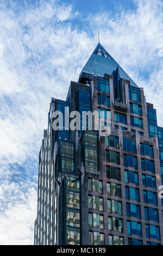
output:
[[131,86],[138,87],[100,43],[98,43],[91,57],[84,66],[82,72],[80,73],[80,77],[90,76],[93,74],[100,77],[104,77],[104,74],[114,76],[117,67],[121,78],[129,80]]

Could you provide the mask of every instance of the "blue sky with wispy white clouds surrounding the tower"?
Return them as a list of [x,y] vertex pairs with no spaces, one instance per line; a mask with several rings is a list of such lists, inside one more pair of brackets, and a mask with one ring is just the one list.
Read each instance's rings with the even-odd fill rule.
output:
[[163,2],[0,1],[0,245],[33,245],[38,159],[52,97],[101,44],[163,126]]

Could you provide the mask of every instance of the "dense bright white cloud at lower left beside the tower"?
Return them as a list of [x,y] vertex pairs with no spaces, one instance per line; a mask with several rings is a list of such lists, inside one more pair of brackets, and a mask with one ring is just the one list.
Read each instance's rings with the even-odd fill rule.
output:
[[[9,186],[7,188],[10,190]],[[20,194],[21,190],[18,190],[17,193]],[[27,198],[21,194],[20,198],[14,199],[14,204],[8,203],[5,212],[0,214],[0,245],[33,245],[36,197],[35,189],[30,188]]]

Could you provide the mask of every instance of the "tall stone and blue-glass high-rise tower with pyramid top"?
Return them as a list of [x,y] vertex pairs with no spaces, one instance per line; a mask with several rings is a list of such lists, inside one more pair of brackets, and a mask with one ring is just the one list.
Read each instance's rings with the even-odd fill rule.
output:
[[[64,115],[58,130],[56,111]],[[67,128],[72,111],[81,114],[78,131]],[[85,130],[83,111],[103,113],[98,130]],[[103,136],[107,119],[111,131]],[[156,109],[98,44],[66,101],[52,98],[50,104],[39,154],[34,244],[163,245],[162,177],[163,128]]]

